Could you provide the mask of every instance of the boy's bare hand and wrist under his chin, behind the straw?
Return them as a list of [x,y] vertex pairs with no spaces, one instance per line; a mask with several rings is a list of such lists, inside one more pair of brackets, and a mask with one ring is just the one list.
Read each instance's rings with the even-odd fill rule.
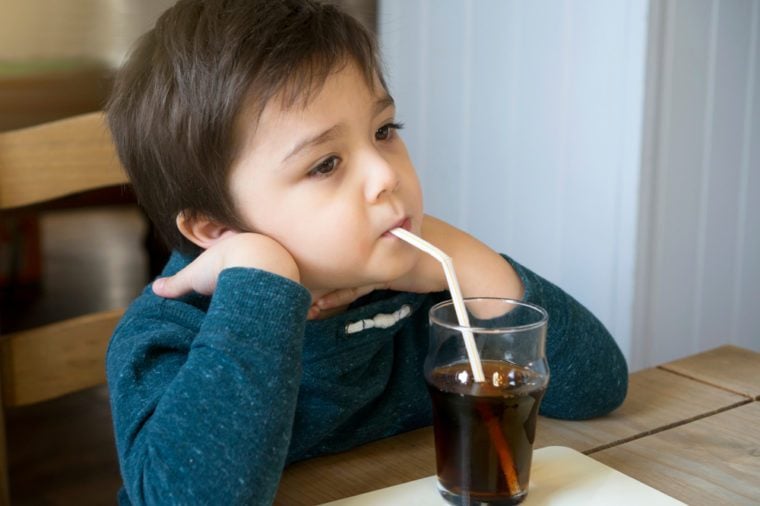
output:
[[[522,298],[522,282],[512,266],[471,235],[432,216],[425,216],[421,235],[452,258],[465,297]],[[429,293],[447,288],[440,262],[427,253],[420,252],[419,262],[406,275],[388,283],[344,288],[323,295],[312,305],[309,317],[318,318],[320,313],[329,313],[330,309],[346,306],[373,290]]]

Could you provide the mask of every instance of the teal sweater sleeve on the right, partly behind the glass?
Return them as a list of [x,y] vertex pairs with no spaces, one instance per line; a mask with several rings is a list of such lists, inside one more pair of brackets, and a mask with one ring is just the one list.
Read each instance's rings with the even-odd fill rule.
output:
[[604,325],[562,289],[507,260],[525,286],[524,300],[549,313],[546,355],[551,376],[541,414],[580,420],[620,406],[628,389],[628,366]]

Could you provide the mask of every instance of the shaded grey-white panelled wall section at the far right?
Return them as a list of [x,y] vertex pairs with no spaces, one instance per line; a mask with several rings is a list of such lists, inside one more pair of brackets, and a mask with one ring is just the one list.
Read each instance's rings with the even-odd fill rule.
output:
[[760,1],[652,14],[633,357],[760,351]]

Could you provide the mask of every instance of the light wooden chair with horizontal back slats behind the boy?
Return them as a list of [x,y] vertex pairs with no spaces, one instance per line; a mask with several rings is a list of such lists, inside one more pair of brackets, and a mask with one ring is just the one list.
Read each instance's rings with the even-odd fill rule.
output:
[[[101,112],[0,133],[0,212],[128,183]],[[0,505],[9,504],[5,408],[105,382],[116,308],[0,336]]]

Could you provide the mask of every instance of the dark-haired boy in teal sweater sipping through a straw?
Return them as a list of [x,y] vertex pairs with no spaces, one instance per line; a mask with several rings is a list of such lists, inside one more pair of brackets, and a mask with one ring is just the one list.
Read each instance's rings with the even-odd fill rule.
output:
[[141,205],[175,248],[107,372],[122,504],[269,504],[287,462],[431,423],[427,311],[465,296],[550,315],[542,413],[623,400],[604,327],[559,288],[423,214],[371,37],[311,0],[182,0],[108,106]]

